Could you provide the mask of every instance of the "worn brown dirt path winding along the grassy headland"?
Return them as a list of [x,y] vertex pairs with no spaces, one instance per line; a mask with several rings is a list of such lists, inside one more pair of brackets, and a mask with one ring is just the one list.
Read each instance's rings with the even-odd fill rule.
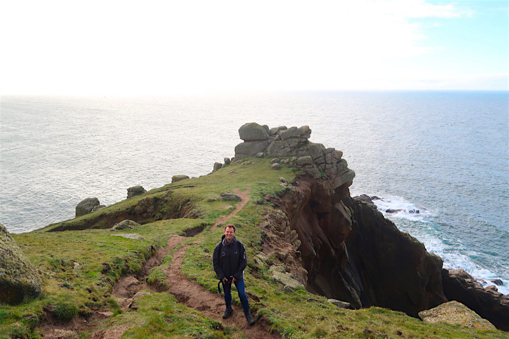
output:
[[[211,231],[215,230],[218,225],[225,223],[230,218],[233,218],[236,213],[244,207],[249,199],[249,191],[244,192],[238,189],[234,190],[235,194],[241,197],[241,201],[237,203],[236,208],[228,215],[219,218],[216,223],[211,227]],[[144,265],[142,272],[138,276],[129,275],[123,277],[117,284],[115,284],[112,294],[117,298],[122,309],[129,312],[129,307],[136,298],[136,293],[140,290],[150,289],[155,290],[153,287],[145,283],[145,277],[148,275],[151,268],[159,266],[162,259],[180,244],[185,237],[173,235],[169,238],[165,248],[159,248],[157,254],[150,258]],[[167,275],[166,284],[169,286],[168,293],[172,293],[180,303],[191,307],[194,310],[200,311],[205,317],[215,319],[225,325],[237,327],[243,332],[246,338],[280,338],[278,333],[270,333],[271,324],[265,318],[257,319],[253,326],[249,326],[244,317],[242,308],[233,305],[234,312],[228,319],[222,319],[224,311],[224,299],[218,293],[211,293],[206,291],[200,284],[187,279],[187,276],[180,273],[182,260],[189,246],[182,246],[173,255],[172,263],[169,267],[162,269],[164,274]],[[246,287],[246,290],[249,286]],[[144,292],[140,292],[144,293]],[[233,291],[235,293],[235,290]],[[123,325],[121,327],[112,327],[103,330],[96,330],[91,338],[93,339],[117,339],[122,336],[124,331],[133,325]]]

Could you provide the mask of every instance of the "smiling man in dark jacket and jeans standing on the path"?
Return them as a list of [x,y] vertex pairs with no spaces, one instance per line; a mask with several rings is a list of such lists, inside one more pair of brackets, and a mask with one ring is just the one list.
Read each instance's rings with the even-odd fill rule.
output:
[[234,283],[239,293],[239,299],[242,303],[247,323],[249,325],[254,324],[254,319],[249,312],[249,301],[247,301],[247,295],[244,290],[244,268],[247,265],[246,249],[242,242],[235,238],[235,226],[233,224],[224,226],[224,235],[214,248],[212,264],[224,291],[226,310],[223,313],[223,318],[230,317],[233,312],[232,283]]

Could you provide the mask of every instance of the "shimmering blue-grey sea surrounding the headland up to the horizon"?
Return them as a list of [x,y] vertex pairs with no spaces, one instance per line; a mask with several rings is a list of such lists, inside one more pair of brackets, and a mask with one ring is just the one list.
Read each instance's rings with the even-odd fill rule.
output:
[[[0,222],[29,232],[84,198],[206,175],[246,122],[309,126],[344,152],[352,196],[377,196],[397,227],[485,286],[509,293],[506,91],[317,91],[159,97],[1,96]],[[387,209],[400,209],[386,213]],[[419,213],[412,213],[419,210]]]

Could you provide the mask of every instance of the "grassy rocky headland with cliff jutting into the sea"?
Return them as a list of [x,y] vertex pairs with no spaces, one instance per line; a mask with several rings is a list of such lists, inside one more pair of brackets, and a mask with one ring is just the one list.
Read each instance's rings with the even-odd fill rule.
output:
[[[418,319],[421,311],[458,300],[507,330],[509,306],[503,295],[469,289],[374,204],[350,197],[355,173],[343,152],[310,142],[310,134],[307,126],[245,124],[235,157],[208,175],[179,175],[114,205],[13,235],[39,271],[43,292],[0,305],[0,332],[505,336],[475,324]],[[235,316],[220,318],[210,256],[227,221],[246,245],[246,291],[257,318],[251,328]]]

